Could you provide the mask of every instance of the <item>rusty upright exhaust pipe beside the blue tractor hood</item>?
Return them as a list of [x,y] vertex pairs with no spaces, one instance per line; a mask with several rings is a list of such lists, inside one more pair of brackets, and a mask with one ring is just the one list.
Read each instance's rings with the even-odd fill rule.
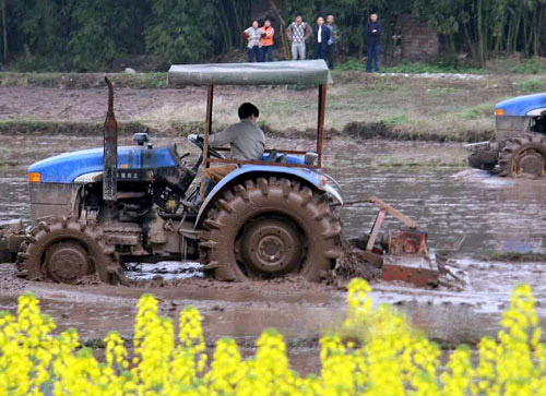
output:
[[114,203],[118,192],[118,122],[114,116],[114,85],[108,77],[104,80],[108,84],[108,111],[104,122],[103,200]]

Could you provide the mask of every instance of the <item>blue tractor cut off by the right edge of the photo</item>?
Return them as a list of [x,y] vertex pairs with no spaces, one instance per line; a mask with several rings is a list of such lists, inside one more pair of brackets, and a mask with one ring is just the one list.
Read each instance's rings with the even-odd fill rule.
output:
[[502,177],[546,172],[546,94],[519,96],[495,107],[496,142],[466,145],[468,165]]

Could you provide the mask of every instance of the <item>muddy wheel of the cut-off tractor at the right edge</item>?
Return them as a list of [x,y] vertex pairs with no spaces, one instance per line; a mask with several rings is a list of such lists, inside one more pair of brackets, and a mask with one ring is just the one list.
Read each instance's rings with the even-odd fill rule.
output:
[[537,133],[527,133],[507,140],[499,154],[499,176],[505,177],[545,175],[546,139]]

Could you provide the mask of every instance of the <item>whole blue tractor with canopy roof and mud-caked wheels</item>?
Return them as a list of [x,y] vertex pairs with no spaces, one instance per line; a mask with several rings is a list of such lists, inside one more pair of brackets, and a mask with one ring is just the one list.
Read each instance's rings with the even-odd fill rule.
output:
[[[320,61],[174,65],[169,84],[207,86],[204,140],[189,153],[154,147],[145,133],[117,145],[114,91],[104,147],[61,154],[28,169],[33,227],[19,249],[19,275],[79,283],[98,275],[126,280],[124,264],[200,260],[217,279],[246,280],[299,274],[318,281],[341,255],[336,183],[322,171],[327,85]],[[317,149],[266,149],[262,161],[225,158],[209,147],[216,85],[319,87]],[[195,206],[200,167],[236,164]]]

